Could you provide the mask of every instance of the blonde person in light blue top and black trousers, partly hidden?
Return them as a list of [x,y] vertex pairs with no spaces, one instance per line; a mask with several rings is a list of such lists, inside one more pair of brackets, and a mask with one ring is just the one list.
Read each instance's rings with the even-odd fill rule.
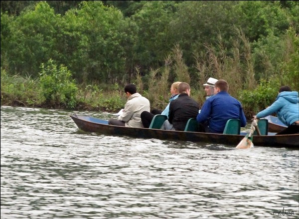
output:
[[169,103],[167,104],[167,106],[165,107],[165,109],[163,111],[158,110],[158,109],[153,109],[151,112],[148,111],[144,111],[141,113],[141,121],[142,124],[144,126],[144,128],[149,128],[149,125],[151,123],[152,118],[154,117],[154,115],[157,114],[161,114],[161,115],[165,115],[168,117],[168,112],[169,112],[169,104],[172,100],[175,100],[178,97],[178,85],[180,84],[180,81],[174,82],[173,84],[171,84],[170,87],[170,99],[169,99]]

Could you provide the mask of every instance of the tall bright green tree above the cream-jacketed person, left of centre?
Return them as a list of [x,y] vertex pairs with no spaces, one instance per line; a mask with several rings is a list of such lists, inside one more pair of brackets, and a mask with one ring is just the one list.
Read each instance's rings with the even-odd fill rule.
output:
[[75,19],[73,31],[86,37],[88,62],[82,68],[89,80],[105,82],[123,74],[125,56],[121,41],[126,35],[122,32],[122,26],[125,26],[122,13],[116,8],[104,6],[101,1],[83,1],[80,9],[70,11],[67,16]]

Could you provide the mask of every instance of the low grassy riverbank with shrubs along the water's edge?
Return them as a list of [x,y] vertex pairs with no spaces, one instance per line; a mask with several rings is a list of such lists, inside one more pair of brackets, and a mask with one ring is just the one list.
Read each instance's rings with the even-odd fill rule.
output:
[[[51,75],[52,74],[52,75]],[[68,77],[65,75],[67,74]],[[146,87],[140,78],[136,79],[138,92],[147,97],[151,109],[164,109],[170,96],[167,81],[163,86],[159,81],[151,81]],[[160,86],[159,86],[160,85]],[[162,88],[163,87],[163,88]],[[260,110],[269,106],[276,97],[277,86],[274,81],[261,81],[252,91],[229,90],[230,95],[238,99],[248,120]],[[144,89],[143,89],[144,88]],[[52,69],[38,78],[8,75],[1,70],[1,106],[21,106],[45,109],[85,110],[100,112],[118,112],[127,101],[123,85],[78,84],[71,79],[67,71]],[[205,101],[202,86],[192,87],[191,97],[200,107]]]

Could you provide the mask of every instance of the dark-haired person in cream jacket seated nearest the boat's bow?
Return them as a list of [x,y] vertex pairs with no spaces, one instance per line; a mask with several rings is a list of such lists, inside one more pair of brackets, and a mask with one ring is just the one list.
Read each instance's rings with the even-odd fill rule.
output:
[[143,128],[140,114],[143,111],[150,111],[149,100],[137,93],[135,84],[127,84],[125,87],[128,101],[125,104],[123,113],[118,119],[109,119],[109,125]]

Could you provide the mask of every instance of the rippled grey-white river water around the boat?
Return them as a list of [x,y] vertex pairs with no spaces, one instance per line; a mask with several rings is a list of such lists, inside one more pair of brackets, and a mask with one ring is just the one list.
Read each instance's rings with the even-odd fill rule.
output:
[[105,136],[1,106],[1,219],[299,216],[299,151]]

